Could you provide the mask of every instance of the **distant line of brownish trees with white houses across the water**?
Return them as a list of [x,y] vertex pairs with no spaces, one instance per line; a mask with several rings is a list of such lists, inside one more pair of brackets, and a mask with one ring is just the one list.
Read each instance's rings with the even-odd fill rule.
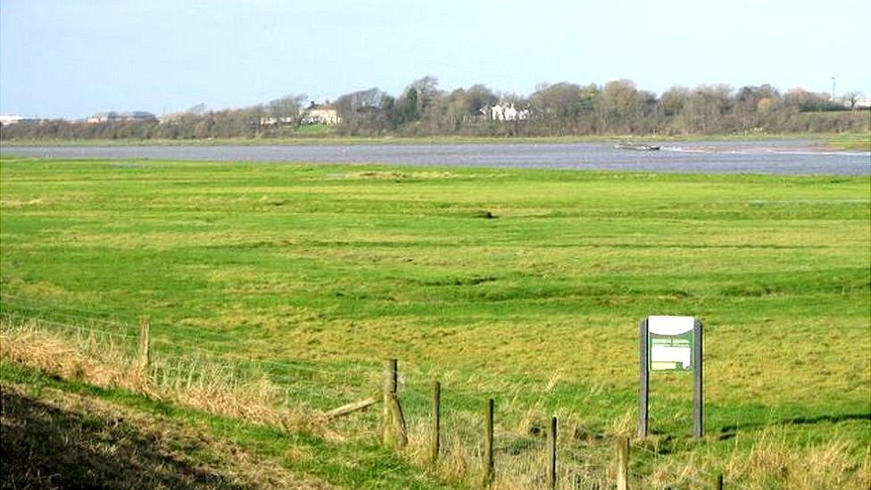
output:
[[[321,104],[339,122],[312,125],[305,96],[286,96],[245,109],[206,111],[203,106],[160,121],[70,122],[43,120],[2,129],[12,139],[202,139],[209,137],[469,136],[555,137],[585,135],[677,136],[871,130],[861,94],[833,100],[825,93],[770,85],[672,87],[657,96],[631,80],[586,86],[541,84],[530,96],[495,92],[484,85],[439,89],[437,79],[411,83],[399,96],[370,88]],[[494,114],[494,107],[497,108]],[[502,114],[510,111],[510,117]],[[510,109],[509,109],[510,108]]]

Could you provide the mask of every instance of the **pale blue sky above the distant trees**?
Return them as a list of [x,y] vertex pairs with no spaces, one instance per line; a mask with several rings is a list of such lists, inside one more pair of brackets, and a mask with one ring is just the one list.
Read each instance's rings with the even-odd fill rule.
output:
[[771,83],[871,96],[867,0],[368,2],[0,0],[0,113],[323,101],[426,75],[529,95],[542,82]]

